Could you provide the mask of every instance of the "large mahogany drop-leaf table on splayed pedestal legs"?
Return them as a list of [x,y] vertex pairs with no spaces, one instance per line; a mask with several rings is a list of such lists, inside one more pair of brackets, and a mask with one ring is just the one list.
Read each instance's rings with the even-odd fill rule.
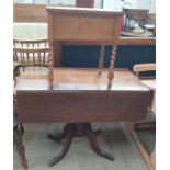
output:
[[76,136],[86,135],[100,156],[113,157],[100,149],[93,122],[136,122],[146,116],[151,101],[147,87],[127,69],[115,69],[111,89],[107,89],[107,69],[54,68],[54,86],[48,87],[47,70],[30,68],[18,79],[16,106],[20,123],[66,123],[59,137],[61,152],[50,160],[58,162],[68,151]]

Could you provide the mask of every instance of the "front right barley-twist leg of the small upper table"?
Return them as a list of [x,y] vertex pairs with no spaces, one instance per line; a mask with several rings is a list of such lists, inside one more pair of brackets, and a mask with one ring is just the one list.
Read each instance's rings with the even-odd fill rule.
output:
[[116,50],[117,50],[117,46],[115,45],[115,46],[113,46],[113,49],[112,49],[110,71],[107,75],[107,78],[109,78],[107,88],[109,89],[112,87],[112,80],[114,78],[114,66],[115,66]]

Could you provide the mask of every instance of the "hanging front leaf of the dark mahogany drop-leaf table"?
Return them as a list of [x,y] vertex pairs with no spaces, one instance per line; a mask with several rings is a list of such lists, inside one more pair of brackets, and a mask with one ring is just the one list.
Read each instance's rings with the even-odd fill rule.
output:
[[149,91],[18,91],[21,123],[140,121],[151,101]]

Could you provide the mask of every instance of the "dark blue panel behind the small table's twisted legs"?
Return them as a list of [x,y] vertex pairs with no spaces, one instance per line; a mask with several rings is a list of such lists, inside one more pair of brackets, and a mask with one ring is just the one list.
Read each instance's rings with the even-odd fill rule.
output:
[[[98,67],[100,46],[64,46],[64,67]],[[105,47],[104,67],[110,66],[112,46]],[[155,45],[118,46],[116,56],[117,68],[133,69],[135,64],[156,63]]]

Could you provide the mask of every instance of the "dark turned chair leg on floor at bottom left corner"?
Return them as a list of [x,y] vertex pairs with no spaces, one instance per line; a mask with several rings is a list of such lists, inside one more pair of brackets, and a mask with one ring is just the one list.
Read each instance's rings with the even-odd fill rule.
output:
[[24,170],[27,170],[27,160],[25,158],[25,147],[23,145],[21,134],[18,129],[18,125],[13,128],[13,141],[16,147],[16,151],[21,158],[21,165],[24,168]]

